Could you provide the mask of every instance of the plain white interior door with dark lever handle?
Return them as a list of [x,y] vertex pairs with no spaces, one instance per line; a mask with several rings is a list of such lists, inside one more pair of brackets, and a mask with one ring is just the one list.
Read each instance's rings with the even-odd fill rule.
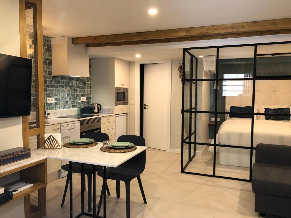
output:
[[[143,137],[150,148],[166,150],[170,142],[171,74],[168,63],[144,65]],[[168,145],[169,146],[169,145]]]

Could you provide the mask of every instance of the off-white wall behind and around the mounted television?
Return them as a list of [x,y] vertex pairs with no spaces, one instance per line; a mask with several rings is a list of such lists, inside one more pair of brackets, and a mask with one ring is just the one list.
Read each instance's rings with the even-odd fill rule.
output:
[[[2,9],[0,13],[0,53],[2,54],[20,56],[18,4],[18,0],[0,1]],[[21,117],[0,119],[0,142],[0,151],[22,146]],[[23,198],[1,208],[0,218],[7,217],[24,217]]]

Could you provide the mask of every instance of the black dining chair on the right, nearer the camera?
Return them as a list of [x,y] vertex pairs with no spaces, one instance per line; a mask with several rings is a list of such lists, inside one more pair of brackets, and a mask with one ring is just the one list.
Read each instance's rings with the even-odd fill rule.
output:
[[[145,139],[141,136],[137,135],[121,135],[118,137],[117,142],[131,142],[135,145],[145,146]],[[118,167],[108,167],[106,169],[106,180],[112,179],[116,181],[116,197],[120,197],[120,181],[125,182],[125,198],[126,198],[126,217],[130,217],[130,201],[129,201],[129,193],[130,193],[130,181],[134,178],[137,178],[139,182],[139,188],[141,190],[141,195],[143,197],[143,202],[146,204],[145,193],[143,191],[143,186],[141,184],[140,174],[145,169],[145,151],[142,151],[138,155],[133,158],[127,160],[123,164]],[[98,176],[104,177],[103,171],[100,170],[97,172]],[[98,205],[97,215],[100,213],[100,208],[103,199],[103,185],[101,189],[100,201]]]

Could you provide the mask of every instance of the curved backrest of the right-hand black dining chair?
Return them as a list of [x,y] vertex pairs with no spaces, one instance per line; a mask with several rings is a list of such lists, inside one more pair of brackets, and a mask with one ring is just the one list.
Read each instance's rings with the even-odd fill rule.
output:
[[[145,146],[145,139],[139,135],[121,135],[118,137],[117,142],[131,142],[134,145]],[[137,171],[140,171],[139,174],[141,174],[145,169],[145,151],[130,158],[125,164],[137,168]]]

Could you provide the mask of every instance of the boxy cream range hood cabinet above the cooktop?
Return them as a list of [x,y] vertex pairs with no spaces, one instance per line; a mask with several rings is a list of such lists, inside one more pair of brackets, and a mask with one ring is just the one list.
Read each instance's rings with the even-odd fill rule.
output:
[[84,44],[68,36],[52,38],[52,75],[89,77],[89,54]]

